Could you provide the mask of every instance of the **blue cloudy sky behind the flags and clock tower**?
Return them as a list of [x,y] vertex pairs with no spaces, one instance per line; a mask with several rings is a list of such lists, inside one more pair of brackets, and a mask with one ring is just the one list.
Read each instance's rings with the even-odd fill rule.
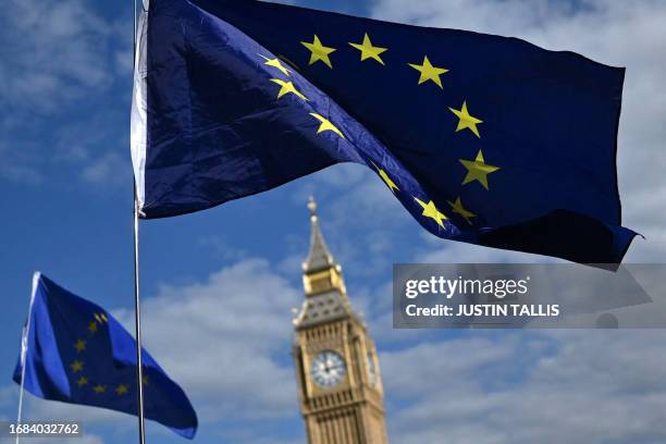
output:
[[[11,419],[35,270],[132,323],[132,4],[8,1],[0,10],[0,418]],[[515,36],[626,66],[622,222],[645,236],[626,261],[664,262],[666,1],[291,3]],[[378,343],[393,443],[666,442],[662,330],[393,330],[394,262],[547,259],[435,238],[360,165],[140,223],[145,346],[189,395],[196,442],[305,442],[291,309],[304,298],[312,194],[353,305]],[[102,409],[28,395],[24,418],[83,421],[78,444],[136,440],[134,417]],[[149,443],[183,442],[159,424],[147,432]]]

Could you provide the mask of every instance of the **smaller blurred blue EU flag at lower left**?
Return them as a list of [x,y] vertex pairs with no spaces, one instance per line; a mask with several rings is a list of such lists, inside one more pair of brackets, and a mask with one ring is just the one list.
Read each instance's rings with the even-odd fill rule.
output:
[[[104,309],[40,273],[33,283],[25,388],[35,396],[137,415],[136,341]],[[145,416],[193,439],[197,416],[183,390],[143,350]],[[14,370],[21,383],[22,361]]]

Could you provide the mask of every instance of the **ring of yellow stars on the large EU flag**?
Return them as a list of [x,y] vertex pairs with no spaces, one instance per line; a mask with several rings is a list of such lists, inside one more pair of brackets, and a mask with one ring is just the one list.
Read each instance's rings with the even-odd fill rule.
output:
[[[375,46],[368,33],[365,33],[362,38],[359,38],[359,40],[360,41],[349,41],[348,44],[351,48],[360,52],[360,62],[370,61],[373,63],[379,63],[382,66],[386,65],[385,61],[382,59],[382,54],[388,51],[388,48]],[[337,51],[337,48],[324,45],[317,34],[313,35],[312,41],[306,40],[300,41],[300,44],[309,51],[308,65],[321,63],[331,70],[333,69],[333,61],[331,59],[333,52]],[[258,55],[263,59],[264,65],[279,71],[282,75],[286,77],[291,77],[293,71],[289,70],[282,62],[281,58],[269,58],[264,54]],[[441,61],[435,61],[433,63],[433,61],[431,61],[431,59],[427,54],[424,54],[423,61],[421,63],[407,63],[409,67],[414,69],[419,73],[417,85],[428,85],[429,83],[432,83],[436,85],[440,89],[444,88],[442,76],[449,73],[451,70],[441,66],[437,62]],[[293,96],[303,101],[309,101],[306,95],[299,91],[292,81],[278,77],[271,78],[270,81],[280,86],[280,89],[278,90],[278,100],[282,99],[285,96]],[[449,107],[448,110],[458,120],[455,133],[465,132],[467,130],[473,136],[476,136],[476,138],[481,139],[481,132],[479,130],[479,125],[483,124],[483,120],[470,112],[467,100],[464,100],[459,108]],[[321,115],[316,112],[310,112],[309,115],[312,116],[319,124],[317,127],[317,134],[330,132],[337,135],[342,139],[346,139],[343,131],[324,115]],[[395,183],[393,178],[388,176],[384,169],[377,165],[372,161],[370,162],[377,170],[378,175],[386,184],[386,186],[393,194],[395,194],[396,192],[400,192],[399,186]],[[462,178],[461,185],[468,185],[478,182],[479,185],[485,190],[490,190],[488,176],[501,170],[499,166],[495,166],[485,162],[483,151],[481,149],[479,149],[474,159],[459,159],[459,162],[466,169],[466,175]],[[416,196],[412,196],[412,198],[421,207],[421,214],[424,218],[433,220],[440,229],[446,230],[444,221],[446,221],[448,218],[440,209],[437,209],[433,200],[421,199]],[[468,224],[472,224],[472,220],[477,217],[477,214],[465,208],[459,196],[455,200],[448,200],[447,203],[451,207],[451,211],[453,213],[458,214]]]

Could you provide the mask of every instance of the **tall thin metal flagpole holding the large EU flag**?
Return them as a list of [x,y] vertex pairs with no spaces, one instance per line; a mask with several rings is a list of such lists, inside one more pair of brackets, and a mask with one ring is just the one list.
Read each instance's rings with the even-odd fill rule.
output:
[[[136,70],[136,0],[133,2],[132,9],[133,18],[133,63]],[[146,433],[144,430],[144,365],[141,359],[141,312],[139,300],[139,261],[138,261],[138,196],[136,190],[136,180],[134,180],[134,330],[136,335],[136,392],[138,400],[138,425],[139,425],[139,444],[146,443]]]

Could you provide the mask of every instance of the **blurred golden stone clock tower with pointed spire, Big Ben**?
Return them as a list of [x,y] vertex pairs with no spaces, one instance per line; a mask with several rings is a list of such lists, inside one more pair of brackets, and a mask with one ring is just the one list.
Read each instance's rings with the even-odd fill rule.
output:
[[310,198],[305,300],[294,319],[294,361],[309,444],[385,444],[382,379],[374,342],[354,312],[342,268],[329,251]]

